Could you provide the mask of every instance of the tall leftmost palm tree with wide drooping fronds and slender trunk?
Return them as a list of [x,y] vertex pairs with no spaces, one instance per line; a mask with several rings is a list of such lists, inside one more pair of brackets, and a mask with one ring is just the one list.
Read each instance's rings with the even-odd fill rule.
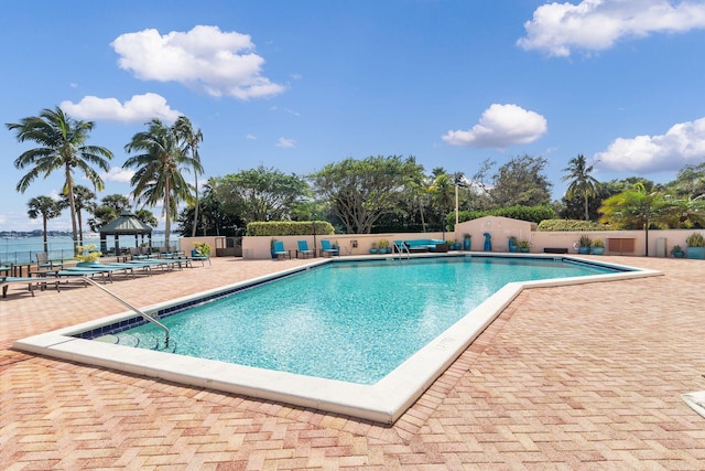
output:
[[[40,144],[23,152],[14,161],[14,167],[30,171],[22,176],[15,190],[24,193],[37,176],[48,176],[56,170],[65,175],[63,193],[68,196],[74,242],[77,240],[76,202],[74,199],[74,171],[79,169],[97,191],[104,189],[102,179],[91,165],[102,171],[110,170],[108,160],[112,152],[104,147],[87,146],[88,135],[95,124],[79,121],[64,114],[59,107],[45,108],[40,116],[31,116],[20,122],[7,124],[9,130],[17,131],[19,142],[33,141]],[[74,251],[76,249],[74,248]]]

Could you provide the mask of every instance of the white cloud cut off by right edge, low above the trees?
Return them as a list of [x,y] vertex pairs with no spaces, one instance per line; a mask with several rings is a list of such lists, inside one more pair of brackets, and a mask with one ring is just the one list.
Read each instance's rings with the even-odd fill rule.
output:
[[705,158],[705,118],[681,122],[661,136],[618,138],[595,156],[599,167],[616,171],[675,171]]

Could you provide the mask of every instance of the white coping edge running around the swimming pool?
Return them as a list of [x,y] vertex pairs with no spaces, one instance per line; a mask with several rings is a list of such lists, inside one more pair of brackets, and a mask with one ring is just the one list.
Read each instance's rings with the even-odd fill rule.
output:
[[[91,342],[72,336],[86,330],[95,329],[98,325],[133,318],[134,312],[132,311],[22,339],[14,342],[13,347],[140,376],[155,377],[196,387],[286,403],[294,406],[341,414],[376,422],[393,424],[421,397],[433,382],[455,362],[473,341],[491,324],[522,290],[662,275],[657,270],[636,269],[625,265],[566,255],[486,253],[463,253],[462,255],[469,257],[567,259],[618,269],[629,269],[630,271],[508,283],[375,385],[359,385],[285,372],[267,371],[212,360],[194,358],[102,342]],[[424,256],[426,255],[412,257]],[[438,255],[434,254],[432,256],[437,257]],[[447,256],[459,255],[448,254]],[[379,260],[393,257],[392,255],[387,255],[386,257],[344,257],[341,261]],[[147,313],[152,313],[174,304],[217,295],[234,288],[265,282],[333,261],[336,260],[314,260],[311,264],[297,268],[282,270],[141,309]]]

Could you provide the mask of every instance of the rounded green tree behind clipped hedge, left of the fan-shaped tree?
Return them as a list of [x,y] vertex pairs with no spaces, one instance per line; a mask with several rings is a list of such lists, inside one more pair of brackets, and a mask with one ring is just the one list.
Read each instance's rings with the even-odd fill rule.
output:
[[245,224],[291,220],[295,206],[308,194],[308,184],[294,174],[259,165],[257,169],[209,180],[221,208]]

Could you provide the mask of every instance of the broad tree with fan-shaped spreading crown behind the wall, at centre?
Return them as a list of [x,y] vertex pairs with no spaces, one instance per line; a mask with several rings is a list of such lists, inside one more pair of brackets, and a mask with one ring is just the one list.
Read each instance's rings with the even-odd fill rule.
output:
[[409,181],[423,173],[413,157],[368,157],[330,163],[311,175],[317,194],[349,234],[369,234],[372,225],[394,211]]

